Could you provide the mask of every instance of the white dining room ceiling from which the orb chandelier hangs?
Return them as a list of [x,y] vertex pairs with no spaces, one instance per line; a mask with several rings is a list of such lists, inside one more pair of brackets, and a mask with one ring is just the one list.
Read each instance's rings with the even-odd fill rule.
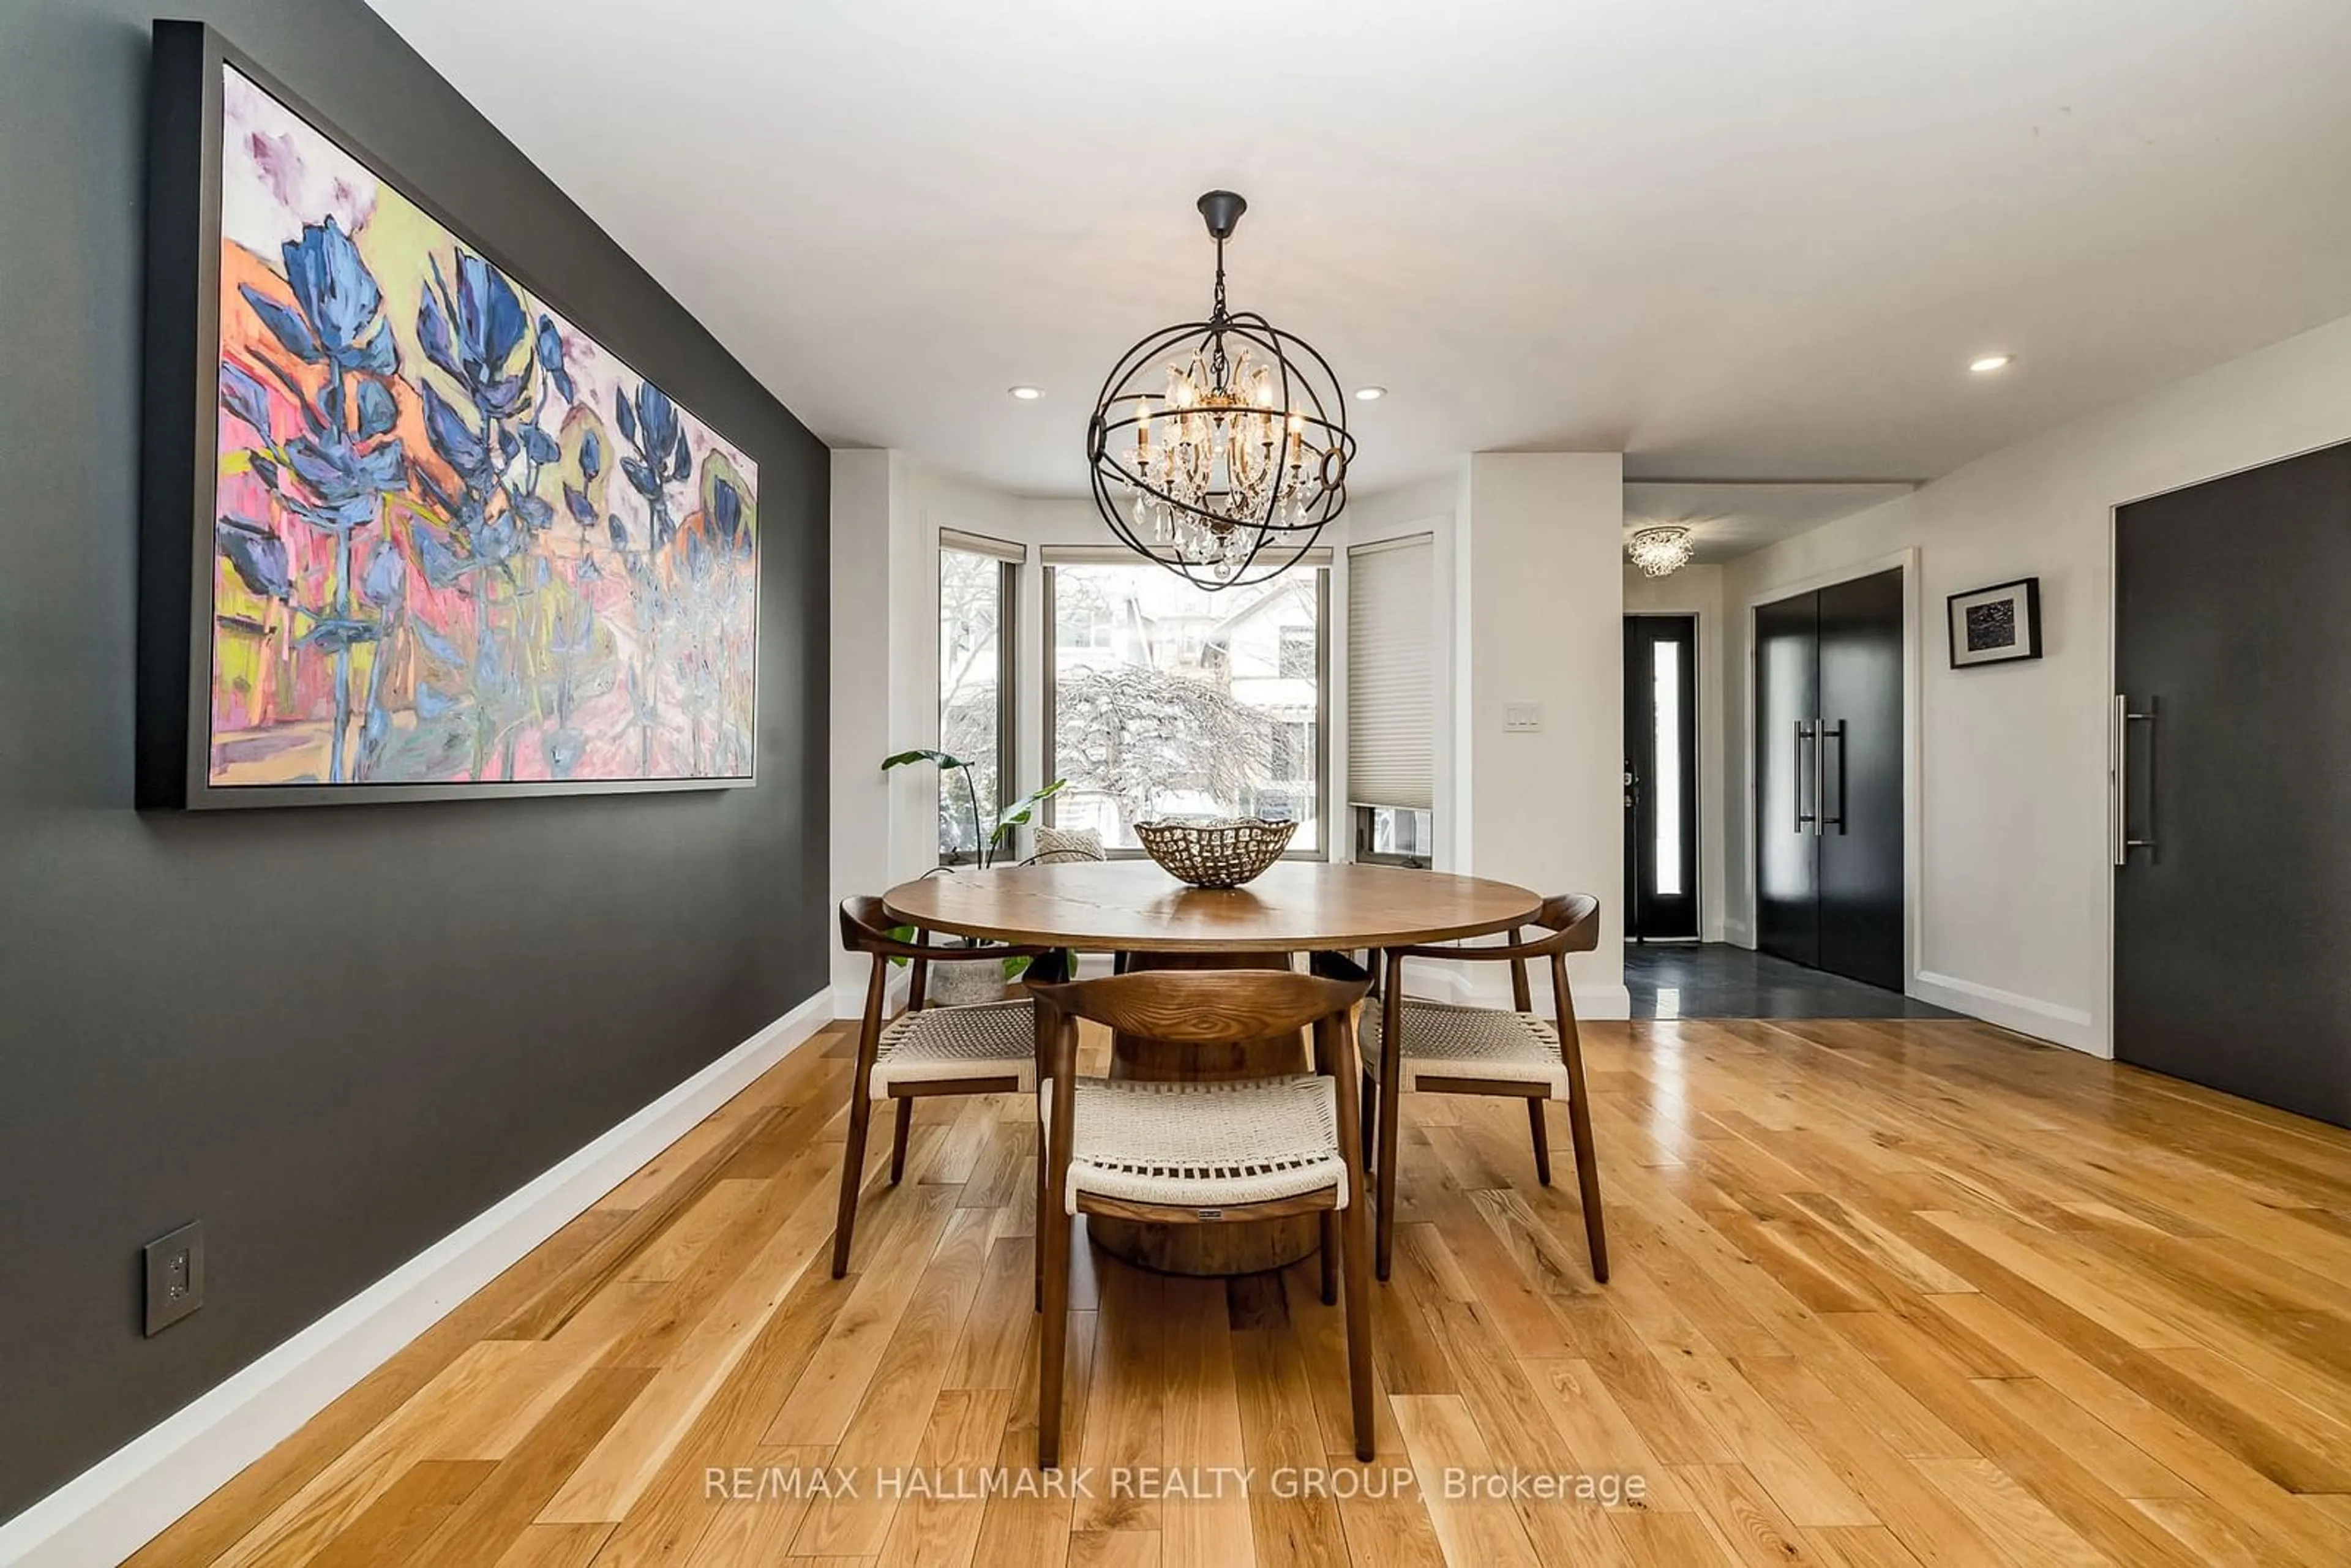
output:
[[1025,494],[1211,186],[1359,491],[1923,480],[2351,313],[2346,0],[374,5],[818,435]]

